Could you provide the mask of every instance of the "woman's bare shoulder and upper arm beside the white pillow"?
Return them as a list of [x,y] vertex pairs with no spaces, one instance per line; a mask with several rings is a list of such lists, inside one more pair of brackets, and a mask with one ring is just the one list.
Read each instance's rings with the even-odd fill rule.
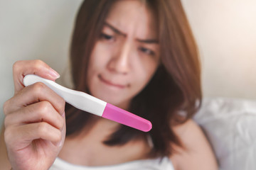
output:
[[183,147],[174,147],[171,161],[176,169],[218,169],[213,150],[201,128],[193,121],[173,127]]

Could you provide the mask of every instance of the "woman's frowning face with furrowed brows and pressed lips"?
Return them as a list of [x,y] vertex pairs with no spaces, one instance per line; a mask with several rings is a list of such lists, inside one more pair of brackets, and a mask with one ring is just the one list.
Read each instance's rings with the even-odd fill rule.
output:
[[90,56],[90,93],[127,108],[158,65],[159,43],[153,13],[140,1],[117,1]]

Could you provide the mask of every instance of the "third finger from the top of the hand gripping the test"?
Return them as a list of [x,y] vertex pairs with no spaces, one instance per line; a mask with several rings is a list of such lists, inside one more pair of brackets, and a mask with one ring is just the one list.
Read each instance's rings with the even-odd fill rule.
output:
[[20,110],[6,115],[4,125],[23,125],[28,123],[46,122],[59,130],[65,125],[64,118],[55,111],[55,108],[48,101],[41,101],[21,108]]

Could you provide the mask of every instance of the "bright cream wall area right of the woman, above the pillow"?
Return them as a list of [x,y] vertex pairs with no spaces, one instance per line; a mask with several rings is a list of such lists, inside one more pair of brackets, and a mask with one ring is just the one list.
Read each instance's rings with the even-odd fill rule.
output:
[[183,5],[201,52],[204,95],[256,99],[256,1]]

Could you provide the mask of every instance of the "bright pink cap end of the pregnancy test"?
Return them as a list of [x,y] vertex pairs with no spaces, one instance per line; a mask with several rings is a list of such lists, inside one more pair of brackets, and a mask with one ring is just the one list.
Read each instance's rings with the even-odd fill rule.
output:
[[152,124],[149,120],[129,113],[128,111],[124,111],[122,108],[113,106],[110,103],[107,103],[105,110],[102,113],[102,117],[144,132],[148,132],[152,128]]

